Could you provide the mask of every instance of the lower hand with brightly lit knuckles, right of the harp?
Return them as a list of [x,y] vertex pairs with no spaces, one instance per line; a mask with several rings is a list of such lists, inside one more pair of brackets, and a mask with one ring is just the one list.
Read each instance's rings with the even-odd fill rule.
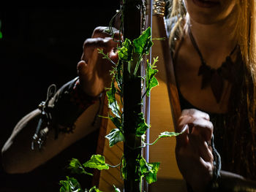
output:
[[176,132],[176,160],[184,179],[193,191],[204,191],[214,169],[211,143],[214,126],[209,115],[199,110],[183,110]]

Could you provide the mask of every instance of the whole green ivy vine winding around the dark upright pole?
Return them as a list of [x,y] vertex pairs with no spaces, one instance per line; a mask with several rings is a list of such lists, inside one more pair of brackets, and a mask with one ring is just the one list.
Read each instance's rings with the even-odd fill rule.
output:
[[[122,12],[122,9],[120,10]],[[118,15],[118,13],[116,14]],[[116,15],[114,17],[116,17]],[[113,28],[111,26],[111,23],[113,23],[113,19],[110,20],[110,27],[105,30],[106,32],[113,34]],[[123,15],[121,15],[121,26],[123,23]],[[161,39],[161,38],[160,38]],[[124,96],[124,80],[123,80],[123,74],[124,74],[124,65],[127,65],[127,69],[129,72],[130,78],[138,78],[137,72],[140,66],[141,61],[143,60],[143,57],[145,55],[149,54],[149,51],[151,47],[154,45],[151,39],[151,28],[147,28],[146,31],[143,31],[143,33],[138,37],[137,39],[134,39],[131,41],[130,39],[125,39],[124,42],[121,42],[120,40],[120,46],[117,47],[118,50],[118,62],[115,64],[111,59],[108,57],[108,54],[105,54],[103,50],[99,50],[99,54],[102,54],[103,58],[108,59],[113,64],[113,69],[110,71],[110,74],[112,75],[112,82],[110,85],[110,88],[106,88],[106,95],[108,96],[108,107],[110,108],[110,114],[108,114],[108,117],[102,117],[102,118],[108,118],[113,122],[113,124],[116,126],[116,128],[113,128],[108,135],[105,136],[106,139],[109,141],[109,147],[113,147],[113,145],[116,145],[118,142],[125,142],[127,138],[124,137],[124,114],[122,112],[121,106],[123,106],[123,96]],[[136,61],[133,60],[133,58],[138,58]],[[143,98],[145,96],[149,96],[151,89],[157,86],[159,83],[157,81],[157,78],[155,75],[157,74],[158,70],[156,69],[156,63],[158,61],[158,58],[153,59],[153,63],[151,64],[149,61],[146,62],[146,75],[141,78],[142,88],[141,91],[144,90],[144,93],[141,96],[141,103],[140,105],[143,105]],[[133,64],[133,62],[136,62],[136,64]],[[134,69],[131,66],[135,66]],[[145,86],[145,88],[144,88]],[[118,101],[116,99],[116,96],[119,96],[119,106]],[[146,137],[146,131],[150,127],[145,121],[145,117],[142,112],[135,115],[135,135],[136,137],[140,137],[141,140],[141,146],[140,148],[146,147],[146,145],[154,145],[159,139],[163,137],[175,137],[178,136],[178,134],[181,133],[175,133],[175,132],[169,132],[165,131],[159,134],[159,137],[153,142],[153,143],[146,143],[145,137]],[[137,147],[138,148],[138,147]],[[157,172],[159,170],[159,162],[153,162],[148,163],[146,162],[145,158],[140,154],[135,160],[136,162],[136,170],[138,177],[135,178],[135,180],[142,180],[145,178],[146,182],[148,184],[154,183],[157,181]],[[91,159],[89,161],[86,161],[84,164],[81,164],[80,161],[76,158],[72,158],[72,160],[69,163],[69,169],[72,173],[77,174],[89,174],[92,175],[90,172],[87,172],[86,169],[88,168],[94,168],[94,169],[113,169],[115,167],[121,167],[121,177],[123,177],[124,180],[127,179],[127,169],[129,169],[129,164],[131,164],[129,161],[127,161],[123,157],[120,159],[120,163],[118,165],[109,165],[105,163],[105,157],[102,155],[92,155]],[[87,189],[83,190],[80,187],[80,184],[78,183],[78,180],[76,180],[73,177],[67,177],[66,180],[60,181],[61,192],[78,192],[78,191],[88,191]],[[115,185],[113,185],[113,189],[116,192],[120,192],[118,188],[116,188]],[[93,188],[89,189],[89,192],[100,192],[99,189],[94,186]]]

